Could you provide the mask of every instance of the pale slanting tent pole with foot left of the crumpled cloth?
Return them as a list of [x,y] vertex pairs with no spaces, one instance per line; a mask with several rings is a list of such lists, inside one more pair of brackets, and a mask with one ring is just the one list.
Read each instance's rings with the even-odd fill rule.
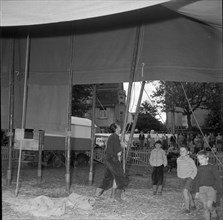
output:
[[[27,35],[26,40],[26,63],[25,63],[25,76],[24,76],[24,89],[23,89],[23,105],[22,105],[22,125],[21,129],[25,129],[26,122],[26,103],[27,103],[27,81],[28,81],[28,70],[29,70],[29,51],[30,51],[30,38],[29,34]],[[18,164],[18,173],[17,173],[17,182],[16,182],[16,196],[18,195],[18,186],[19,186],[19,175],[20,175],[20,166],[21,166],[21,157],[22,157],[22,145],[20,144],[19,149],[19,164]]]

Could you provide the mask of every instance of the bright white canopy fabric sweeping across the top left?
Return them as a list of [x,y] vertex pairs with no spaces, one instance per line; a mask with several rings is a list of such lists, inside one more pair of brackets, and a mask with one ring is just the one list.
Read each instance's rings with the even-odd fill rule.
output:
[[168,0],[2,0],[0,26],[74,21],[136,10]]

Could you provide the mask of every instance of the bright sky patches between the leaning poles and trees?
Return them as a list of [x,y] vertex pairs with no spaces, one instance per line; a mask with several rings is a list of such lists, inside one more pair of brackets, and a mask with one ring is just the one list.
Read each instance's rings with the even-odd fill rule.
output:
[[[149,102],[150,102],[150,100],[152,100],[151,95],[152,95],[153,91],[155,91],[156,84],[157,84],[156,81],[146,83],[141,103],[143,103],[145,100],[148,100]],[[130,108],[129,108],[130,112],[135,112],[135,110],[136,110],[136,105],[137,105],[138,98],[139,98],[140,88],[141,88],[140,82],[135,82],[132,86],[132,97],[131,97],[131,103],[130,103]],[[127,95],[128,94],[128,83],[124,83],[124,89],[125,89],[126,95]],[[162,122],[163,121],[165,122],[166,114],[161,113],[160,111],[159,111],[159,113],[161,114],[162,119],[160,119],[158,117],[157,117],[157,119],[159,119]]]

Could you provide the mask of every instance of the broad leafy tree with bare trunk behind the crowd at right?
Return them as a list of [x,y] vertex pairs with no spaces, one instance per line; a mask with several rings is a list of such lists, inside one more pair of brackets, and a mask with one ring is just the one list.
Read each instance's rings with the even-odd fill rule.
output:
[[191,130],[192,112],[198,108],[209,109],[213,104],[214,90],[214,83],[160,81],[152,97],[163,111],[176,112],[176,107],[180,107],[187,116],[188,129]]

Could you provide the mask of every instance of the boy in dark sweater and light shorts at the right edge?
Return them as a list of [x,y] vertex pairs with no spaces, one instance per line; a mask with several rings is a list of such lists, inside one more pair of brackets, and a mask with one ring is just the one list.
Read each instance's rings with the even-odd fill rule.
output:
[[204,217],[206,220],[217,218],[216,209],[213,203],[216,202],[217,190],[220,189],[220,174],[216,166],[208,163],[209,157],[205,150],[197,153],[198,167],[196,180],[195,198],[199,198],[204,207]]

